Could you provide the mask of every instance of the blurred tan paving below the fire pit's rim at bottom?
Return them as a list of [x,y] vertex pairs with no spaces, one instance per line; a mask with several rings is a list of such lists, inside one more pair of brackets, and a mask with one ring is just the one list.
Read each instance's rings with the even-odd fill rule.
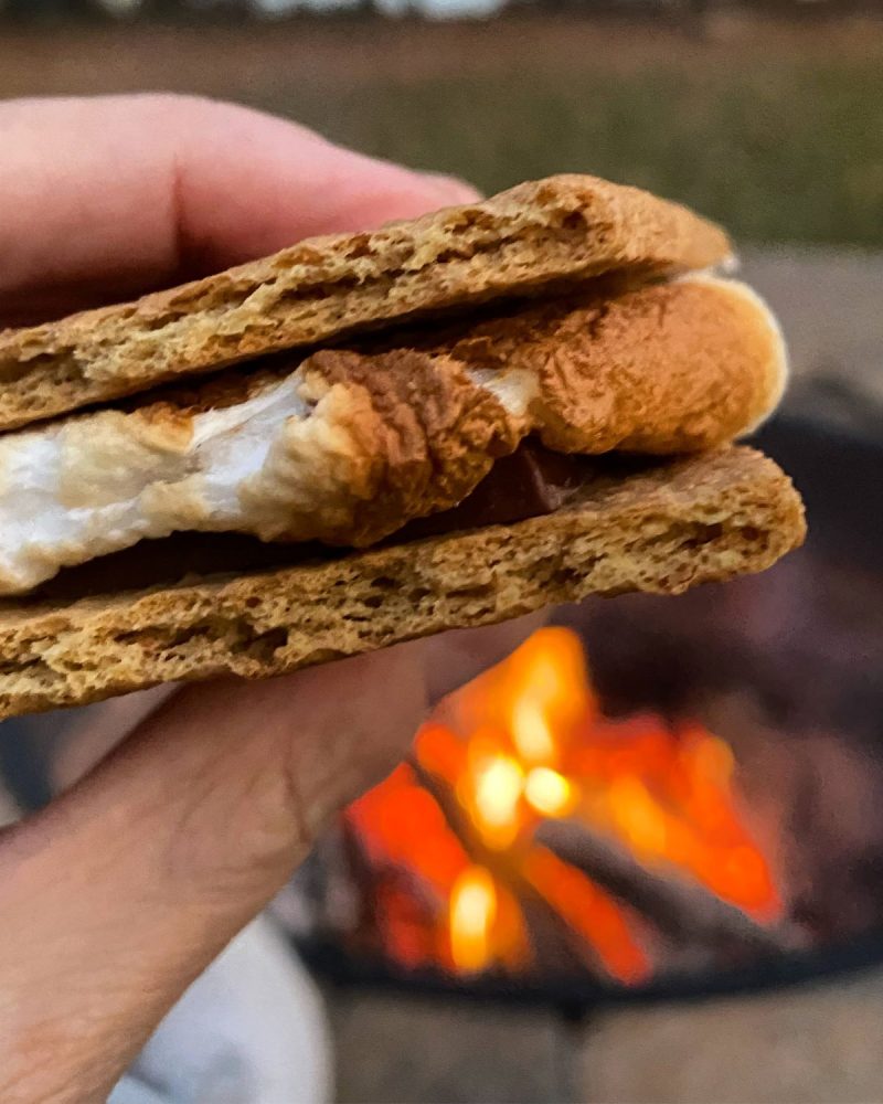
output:
[[549,1007],[329,995],[342,1104],[868,1104],[883,1085],[881,1011],[880,969],[581,1022]]

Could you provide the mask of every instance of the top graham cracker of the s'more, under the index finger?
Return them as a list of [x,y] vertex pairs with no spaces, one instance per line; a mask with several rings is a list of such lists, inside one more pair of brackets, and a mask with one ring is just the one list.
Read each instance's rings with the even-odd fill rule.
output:
[[722,230],[593,177],[309,238],[272,257],[56,322],[0,333],[0,431],[281,349],[316,346],[604,273],[725,261]]

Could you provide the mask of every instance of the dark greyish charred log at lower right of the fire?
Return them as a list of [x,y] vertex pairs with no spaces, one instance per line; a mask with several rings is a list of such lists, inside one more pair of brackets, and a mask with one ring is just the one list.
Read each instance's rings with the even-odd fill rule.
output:
[[544,820],[534,832],[534,841],[678,942],[689,940],[715,949],[764,955],[799,945],[792,930],[765,927],[699,882],[649,870],[613,840],[576,820]]

